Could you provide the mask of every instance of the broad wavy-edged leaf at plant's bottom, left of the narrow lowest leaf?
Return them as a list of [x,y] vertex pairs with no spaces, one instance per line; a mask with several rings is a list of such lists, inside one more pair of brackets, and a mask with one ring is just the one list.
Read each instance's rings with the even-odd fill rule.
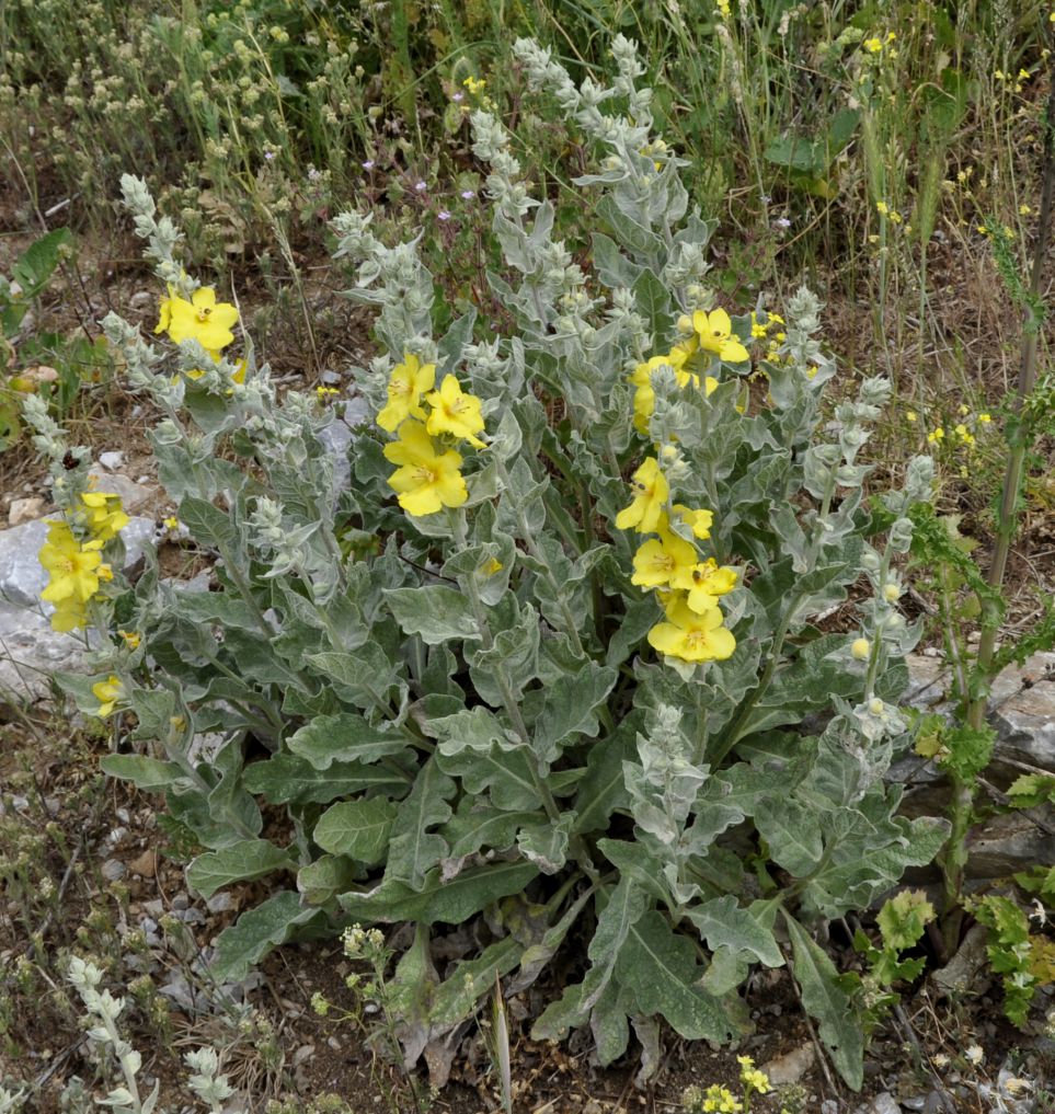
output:
[[631,926],[616,964],[619,984],[634,995],[635,1013],[662,1015],[686,1039],[724,1043],[742,1022],[730,1017],[726,1001],[701,989],[704,974],[692,940],[675,935],[656,910]]

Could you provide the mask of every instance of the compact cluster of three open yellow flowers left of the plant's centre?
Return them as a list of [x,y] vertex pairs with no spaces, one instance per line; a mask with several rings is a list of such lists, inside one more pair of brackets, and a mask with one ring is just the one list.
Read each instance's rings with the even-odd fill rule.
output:
[[[378,413],[381,429],[397,436],[384,447],[385,459],[399,466],[389,487],[399,494],[400,507],[414,517],[460,507],[469,498],[461,453],[439,449],[432,438],[447,434],[477,449],[487,447],[477,437],[483,432],[480,400],[466,394],[453,375],[445,375],[438,391],[434,385],[436,364],[407,354],[392,369],[389,401]],[[422,402],[430,408],[428,413]]]

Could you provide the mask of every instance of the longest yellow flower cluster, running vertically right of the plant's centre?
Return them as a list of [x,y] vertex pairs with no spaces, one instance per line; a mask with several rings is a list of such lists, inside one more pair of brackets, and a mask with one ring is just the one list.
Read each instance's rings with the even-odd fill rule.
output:
[[631,583],[660,593],[666,622],[648,632],[648,644],[661,654],[683,662],[720,662],[736,648],[736,639],[722,626],[719,598],[732,592],[734,569],[720,567],[713,558],[700,560],[696,546],[671,529],[671,515],[688,527],[693,537],[711,536],[714,516],[674,504],[667,510],[671,488],[655,457],[648,457],[634,473],[634,499],[616,516],[621,530],[657,534],[634,555]]

